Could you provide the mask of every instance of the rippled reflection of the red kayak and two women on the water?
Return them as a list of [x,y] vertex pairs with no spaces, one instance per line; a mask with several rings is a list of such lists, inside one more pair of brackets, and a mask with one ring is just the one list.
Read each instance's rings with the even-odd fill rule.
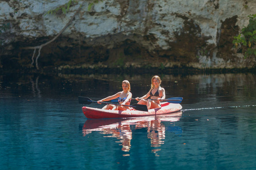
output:
[[[85,137],[93,131],[104,134],[104,137],[117,138],[118,143],[122,145],[122,151],[129,152],[131,148],[131,139],[133,132],[137,129],[146,129],[147,138],[151,142],[151,151],[158,156],[160,146],[164,144],[166,130],[175,134],[181,134],[182,129],[175,126],[174,122],[179,121],[182,112],[163,114],[159,116],[137,117],[137,118],[110,118],[110,119],[88,119],[82,127],[82,134]],[[172,122],[166,127],[163,122]],[[129,154],[123,154],[129,156]]]

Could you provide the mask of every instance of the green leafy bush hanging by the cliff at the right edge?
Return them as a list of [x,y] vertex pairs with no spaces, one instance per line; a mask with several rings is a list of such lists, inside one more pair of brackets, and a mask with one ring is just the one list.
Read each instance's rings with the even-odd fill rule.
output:
[[234,36],[233,44],[245,53],[245,57],[256,56],[256,14],[249,15],[249,24]]

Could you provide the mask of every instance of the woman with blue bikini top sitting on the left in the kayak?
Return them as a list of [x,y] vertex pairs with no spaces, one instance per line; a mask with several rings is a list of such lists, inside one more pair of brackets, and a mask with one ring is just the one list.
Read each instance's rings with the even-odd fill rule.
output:
[[122,88],[123,91],[117,92],[117,94],[105,97],[104,99],[98,100],[97,103],[101,104],[103,101],[112,100],[118,97],[118,102],[121,105],[114,105],[114,104],[107,104],[102,109],[108,109],[108,110],[118,110],[118,111],[126,111],[130,108],[124,105],[130,105],[131,103],[131,97],[133,96],[131,94],[131,86],[130,82],[128,80],[123,80],[122,82]]

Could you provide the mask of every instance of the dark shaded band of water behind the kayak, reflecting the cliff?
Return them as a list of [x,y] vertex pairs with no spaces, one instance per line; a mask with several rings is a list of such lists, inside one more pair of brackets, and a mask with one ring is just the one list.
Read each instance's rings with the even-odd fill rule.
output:
[[[166,89],[167,98],[182,96],[182,104],[189,104],[192,108],[199,108],[200,106],[192,105],[197,103],[204,107],[231,106],[226,101],[243,105],[255,104],[248,103],[256,95],[255,74],[159,76],[163,80],[162,87]],[[133,97],[137,97],[148,92],[151,77],[151,74],[0,75],[0,97],[24,96],[26,92],[29,95],[27,97],[86,96],[97,100],[121,90],[120,83],[123,79],[129,80]]]

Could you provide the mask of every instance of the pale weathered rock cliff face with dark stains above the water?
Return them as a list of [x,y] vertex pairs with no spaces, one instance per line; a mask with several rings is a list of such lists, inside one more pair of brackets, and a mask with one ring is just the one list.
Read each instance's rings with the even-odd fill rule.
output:
[[51,40],[82,5],[67,29],[42,48],[40,67],[255,67],[255,57],[245,59],[232,44],[249,23],[247,16],[256,14],[255,0],[83,2],[2,0],[0,65],[30,65],[33,50],[22,47]]

